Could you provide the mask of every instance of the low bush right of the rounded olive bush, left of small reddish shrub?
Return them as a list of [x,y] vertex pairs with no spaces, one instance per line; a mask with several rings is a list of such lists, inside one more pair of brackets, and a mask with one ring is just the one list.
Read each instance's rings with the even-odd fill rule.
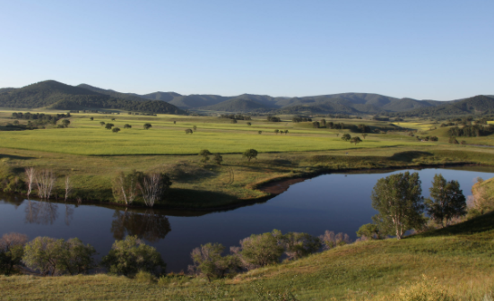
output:
[[290,259],[305,257],[321,248],[319,237],[307,233],[289,232],[283,235],[281,231],[273,230],[273,236],[278,239],[278,244],[282,245]]

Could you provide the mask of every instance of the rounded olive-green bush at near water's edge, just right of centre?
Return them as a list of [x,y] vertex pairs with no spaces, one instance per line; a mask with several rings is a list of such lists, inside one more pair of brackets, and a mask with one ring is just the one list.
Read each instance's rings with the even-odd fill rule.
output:
[[240,241],[242,258],[254,266],[278,263],[284,249],[273,233],[253,234]]

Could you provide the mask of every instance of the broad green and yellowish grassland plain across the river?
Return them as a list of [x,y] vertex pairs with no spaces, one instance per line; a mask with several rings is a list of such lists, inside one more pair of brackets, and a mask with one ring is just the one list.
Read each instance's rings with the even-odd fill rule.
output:
[[[13,123],[11,114],[0,112],[0,125]],[[282,116],[282,122],[269,123],[264,117],[254,117],[249,126],[247,121],[231,124],[230,119],[212,116],[74,114],[68,128],[51,125],[32,131],[0,131],[0,168],[18,176],[28,166],[53,169],[60,178],[69,175],[74,183],[72,198],[83,202],[112,202],[111,180],[119,171],[159,170],[173,181],[167,206],[206,209],[267,197],[268,193],[256,188],[283,177],[451,163],[494,165],[494,149],[449,144],[447,129],[431,130],[429,121],[412,120],[400,126],[418,129],[416,134],[420,136],[436,135],[439,142],[419,142],[407,133],[389,132],[368,133],[365,139],[362,137],[363,142],[354,145],[341,139],[342,133],[351,133],[350,130],[316,129],[311,123],[297,124],[290,119]],[[100,121],[112,123],[122,131],[112,133]],[[331,121],[393,128],[374,120]],[[152,124],[152,128],[144,130],[144,123]],[[132,128],[124,129],[126,124]],[[194,125],[195,133],[186,134],[184,130]],[[289,133],[276,134],[275,129]],[[490,136],[465,140],[472,144],[493,141]],[[251,148],[260,153],[248,163],[241,153]],[[221,166],[202,163],[196,154],[203,149],[220,152]],[[61,179],[58,187],[63,187]]]

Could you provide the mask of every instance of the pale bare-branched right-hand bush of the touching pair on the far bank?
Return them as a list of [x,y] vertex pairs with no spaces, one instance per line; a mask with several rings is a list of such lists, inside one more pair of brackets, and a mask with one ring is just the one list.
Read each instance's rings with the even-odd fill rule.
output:
[[156,202],[162,201],[171,185],[169,176],[162,173],[143,175],[140,180],[138,187],[141,190],[143,201],[148,207],[152,207]]

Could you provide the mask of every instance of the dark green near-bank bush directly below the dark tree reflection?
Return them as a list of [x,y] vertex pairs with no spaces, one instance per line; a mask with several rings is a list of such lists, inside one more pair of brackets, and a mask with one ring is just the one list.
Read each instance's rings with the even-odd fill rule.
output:
[[138,271],[158,274],[166,268],[160,253],[154,247],[145,245],[137,236],[126,236],[124,240],[115,241],[101,265],[112,273],[125,276],[132,276]]

